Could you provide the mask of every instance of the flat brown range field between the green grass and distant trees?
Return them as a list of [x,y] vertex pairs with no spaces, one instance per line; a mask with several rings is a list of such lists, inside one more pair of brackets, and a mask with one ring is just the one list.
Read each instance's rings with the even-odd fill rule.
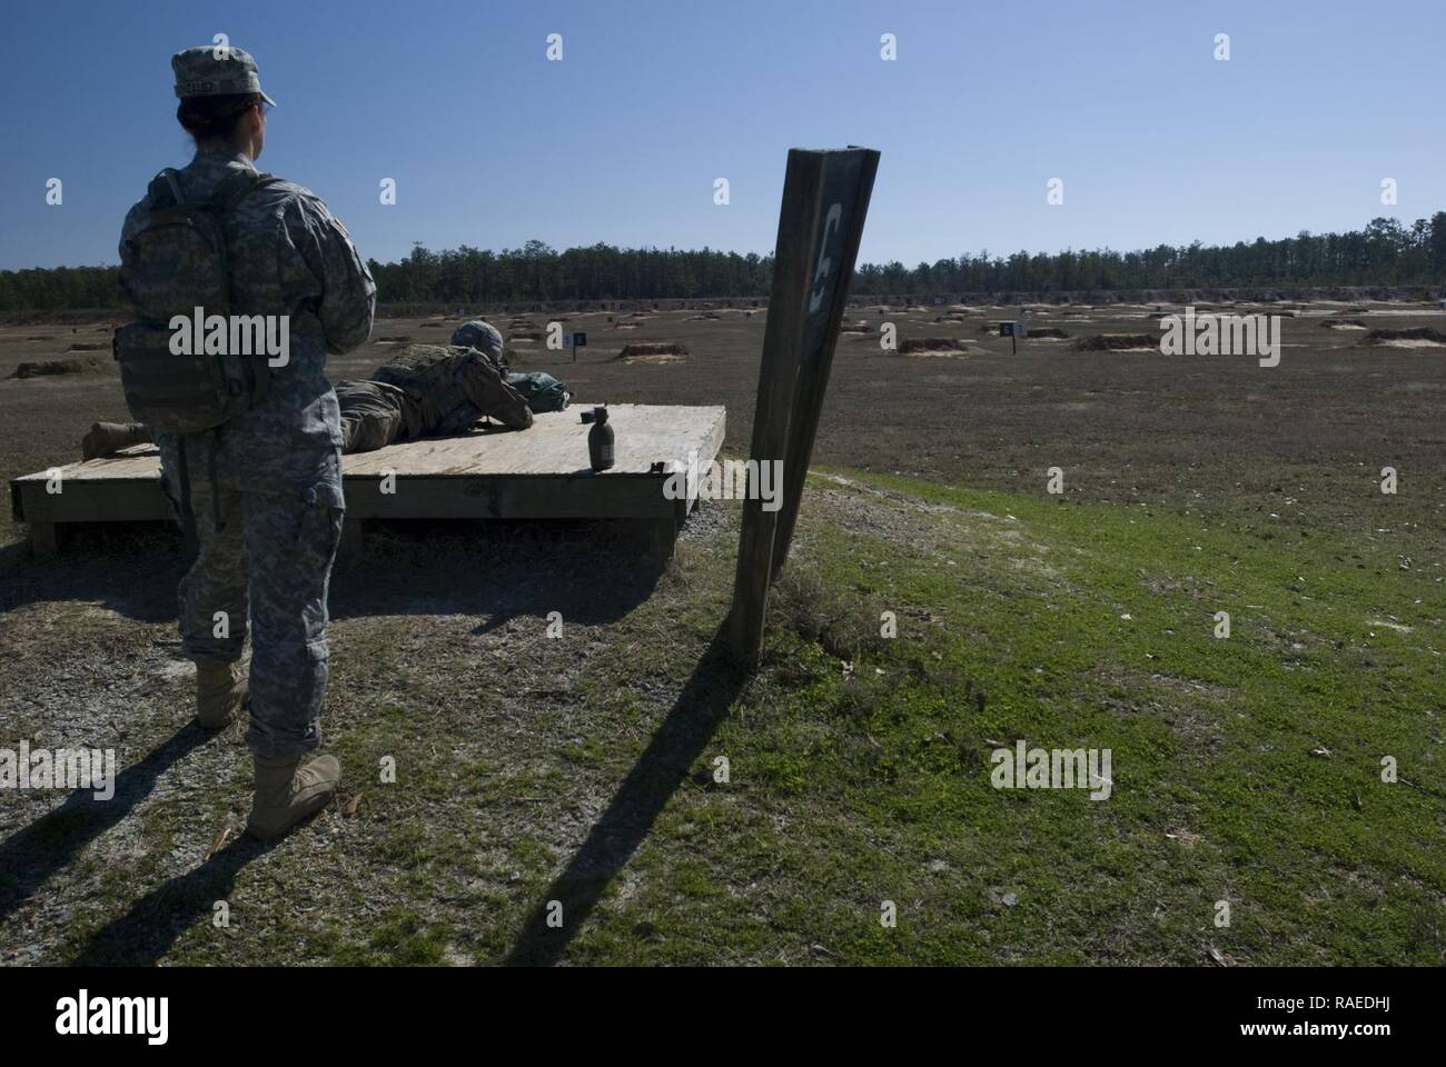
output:
[[[844,327],[866,324],[869,333],[840,338],[814,461],[1022,492],[1038,490],[1047,468],[1060,467],[1066,496],[1206,509],[1299,507],[1314,520],[1346,522],[1345,484],[1369,483],[1381,467],[1394,466],[1401,477],[1432,479],[1439,487],[1446,470],[1446,347],[1372,344],[1361,330],[1323,325],[1446,330],[1446,314],[1426,305],[1362,307],[1284,308],[1293,317],[1281,320],[1280,366],[1259,367],[1239,356],[1077,350],[1077,341],[1095,334],[1158,335],[1157,307],[1035,308],[1030,318],[1037,330],[1066,337],[1030,338],[1012,354],[1008,338],[980,328],[1011,318],[1012,309],[859,305]],[[745,454],[766,312],[714,314],[719,318],[697,311],[557,317],[564,330],[587,333],[577,361],[542,340],[516,341],[516,369],[557,374],[587,403],[724,403],[724,448]],[[373,340],[335,359],[331,376],[366,376],[398,344],[445,341],[455,321],[379,318]],[[493,321],[508,335],[528,333],[521,325],[526,321],[545,337],[551,320],[499,314]],[[510,322],[519,325],[509,330]],[[895,324],[899,341],[959,338],[966,350],[886,353],[879,343],[885,322]],[[688,356],[617,359],[623,346],[648,341],[678,341]],[[106,324],[0,328],[0,454],[7,479],[78,458],[93,419],[127,418],[110,373],[6,379],[22,361],[84,354],[91,346],[108,350]],[[0,541],[14,536],[6,516]]]

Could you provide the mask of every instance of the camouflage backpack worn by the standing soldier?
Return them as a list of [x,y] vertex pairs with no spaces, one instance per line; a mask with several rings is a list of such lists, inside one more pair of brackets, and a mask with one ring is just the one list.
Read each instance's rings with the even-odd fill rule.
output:
[[171,347],[175,315],[230,315],[231,275],[224,221],[244,197],[279,182],[269,173],[234,173],[208,200],[181,195],[176,172],[150,182],[145,227],[121,252],[120,288],[136,322],[116,330],[126,406],[140,422],[168,434],[198,434],[247,411],[266,396],[266,354],[178,356]]

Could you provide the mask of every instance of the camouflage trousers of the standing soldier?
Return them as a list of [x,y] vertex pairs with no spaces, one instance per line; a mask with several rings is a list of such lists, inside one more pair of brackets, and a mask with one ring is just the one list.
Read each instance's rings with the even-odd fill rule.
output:
[[195,552],[181,578],[181,649],[197,662],[234,662],[249,629],[247,747],[270,758],[311,752],[321,745],[327,587],[343,510],[228,484],[210,434],[158,444],[162,487]]

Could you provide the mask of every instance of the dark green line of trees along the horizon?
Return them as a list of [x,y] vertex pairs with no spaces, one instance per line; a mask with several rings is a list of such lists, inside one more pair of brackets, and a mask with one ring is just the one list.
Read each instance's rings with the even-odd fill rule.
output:
[[[762,298],[774,257],[704,247],[557,252],[542,241],[492,252],[422,244],[395,263],[369,260],[383,304],[513,304]],[[0,270],[0,312],[120,307],[117,267]],[[857,267],[859,296],[1080,289],[1207,289],[1248,286],[1391,286],[1446,283],[1446,211],[1403,226],[1375,218],[1362,230],[1235,244],[1161,244],[1138,252],[992,256],[988,250],[907,267]]]

